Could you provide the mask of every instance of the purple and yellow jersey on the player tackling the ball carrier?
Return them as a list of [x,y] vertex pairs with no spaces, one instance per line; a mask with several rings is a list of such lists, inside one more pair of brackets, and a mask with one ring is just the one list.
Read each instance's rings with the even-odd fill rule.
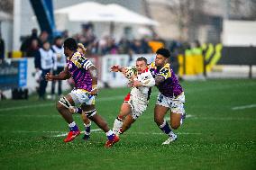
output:
[[169,63],[158,69],[155,63],[151,62],[149,68],[153,76],[160,75],[164,77],[164,81],[157,86],[161,94],[167,97],[173,97],[183,92],[181,85],[178,83],[178,78],[170,68]]

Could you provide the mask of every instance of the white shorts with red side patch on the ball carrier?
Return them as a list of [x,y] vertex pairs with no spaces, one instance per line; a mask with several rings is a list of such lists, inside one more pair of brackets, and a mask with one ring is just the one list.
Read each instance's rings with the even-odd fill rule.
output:
[[127,94],[123,102],[128,103],[131,106],[133,120],[139,118],[142,113],[146,111],[148,106],[148,103],[142,102],[131,94]]

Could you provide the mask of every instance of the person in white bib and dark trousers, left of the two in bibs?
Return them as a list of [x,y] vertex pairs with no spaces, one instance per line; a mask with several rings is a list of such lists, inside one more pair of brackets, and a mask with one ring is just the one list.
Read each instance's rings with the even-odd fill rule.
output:
[[39,86],[39,99],[45,99],[45,91],[47,86],[47,81],[45,80],[45,75],[50,73],[52,68],[56,69],[54,65],[54,53],[50,49],[50,42],[44,41],[42,48],[39,49],[38,55],[35,57],[34,65],[37,72],[41,72],[40,86]]

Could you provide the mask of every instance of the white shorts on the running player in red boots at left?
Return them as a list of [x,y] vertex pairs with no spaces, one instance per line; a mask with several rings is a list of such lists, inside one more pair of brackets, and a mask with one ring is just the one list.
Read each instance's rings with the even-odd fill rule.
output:
[[77,104],[86,104],[93,105],[95,104],[95,95],[91,95],[84,89],[73,89],[69,93],[74,101]]

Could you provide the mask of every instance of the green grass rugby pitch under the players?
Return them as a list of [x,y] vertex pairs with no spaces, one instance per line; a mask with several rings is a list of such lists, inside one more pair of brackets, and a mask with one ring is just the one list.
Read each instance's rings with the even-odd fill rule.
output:
[[[54,137],[67,132],[68,126],[51,101],[38,102],[35,96],[29,101],[1,101],[0,169],[256,169],[256,107],[232,109],[256,104],[256,81],[182,85],[191,116],[175,130],[178,140],[169,146],[161,146],[167,137],[153,121],[157,89],[147,111],[110,149],[104,148],[102,131],[92,132],[89,142],[82,135],[70,143]],[[97,111],[110,127],[128,92],[103,89],[97,96]],[[75,120],[83,130],[78,115]],[[92,129],[98,128],[93,124]]]

